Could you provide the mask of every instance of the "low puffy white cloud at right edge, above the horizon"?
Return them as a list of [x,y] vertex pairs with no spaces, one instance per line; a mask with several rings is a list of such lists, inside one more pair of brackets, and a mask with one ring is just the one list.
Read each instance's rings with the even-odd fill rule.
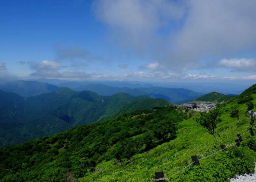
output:
[[233,71],[256,72],[256,59],[252,58],[222,59],[217,65],[231,68]]

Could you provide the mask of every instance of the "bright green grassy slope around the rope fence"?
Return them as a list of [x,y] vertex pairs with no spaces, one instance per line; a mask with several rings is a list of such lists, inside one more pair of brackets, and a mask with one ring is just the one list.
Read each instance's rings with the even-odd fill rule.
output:
[[[250,92],[247,94],[251,95]],[[251,96],[255,108],[256,94]],[[216,138],[193,117],[179,124],[174,140],[136,154],[129,160],[113,159],[102,162],[89,176],[78,181],[153,182],[156,171],[163,171],[166,178],[171,177],[191,164],[190,157],[194,155],[202,159],[200,165],[190,165],[168,181],[229,181],[236,174],[253,172],[256,162],[256,136],[251,136],[248,132],[250,118],[246,116],[247,105],[237,104],[237,101],[238,98],[221,105],[222,122],[217,124]],[[234,107],[238,109],[238,118],[231,117],[230,112]],[[234,145],[234,139],[239,133],[242,134],[243,141],[241,146],[237,147]],[[227,149],[220,151],[221,144],[225,144]],[[213,155],[209,156],[211,154]],[[203,159],[204,157],[207,158]]]

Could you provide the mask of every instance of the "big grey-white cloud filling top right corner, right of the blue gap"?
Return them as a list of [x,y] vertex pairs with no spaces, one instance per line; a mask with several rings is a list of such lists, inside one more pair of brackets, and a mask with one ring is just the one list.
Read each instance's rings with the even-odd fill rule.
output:
[[[175,36],[167,66],[222,58],[252,49],[256,44],[256,3],[243,1],[190,1],[184,26]],[[190,68],[191,69],[191,68]]]

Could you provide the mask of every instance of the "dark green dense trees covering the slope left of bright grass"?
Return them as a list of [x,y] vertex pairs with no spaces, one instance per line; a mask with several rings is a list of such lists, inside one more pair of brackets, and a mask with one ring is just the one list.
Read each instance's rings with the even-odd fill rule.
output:
[[0,148],[1,181],[65,181],[63,174],[83,177],[96,164],[126,160],[175,138],[187,117],[171,108],[136,111],[112,120],[75,127],[15,146]]

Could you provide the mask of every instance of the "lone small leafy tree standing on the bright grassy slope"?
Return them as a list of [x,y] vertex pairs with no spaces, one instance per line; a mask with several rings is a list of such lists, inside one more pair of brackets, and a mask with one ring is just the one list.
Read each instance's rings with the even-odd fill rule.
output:
[[207,128],[209,133],[215,135],[216,124],[221,122],[220,111],[218,108],[210,110],[207,112],[202,112],[199,117],[197,117],[196,121]]

